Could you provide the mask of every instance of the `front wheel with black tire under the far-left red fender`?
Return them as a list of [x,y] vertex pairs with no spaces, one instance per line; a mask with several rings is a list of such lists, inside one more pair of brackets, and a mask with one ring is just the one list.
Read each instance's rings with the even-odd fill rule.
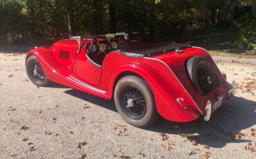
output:
[[48,86],[51,83],[44,74],[42,66],[34,55],[31,55],[26,60],[26,73],[30,81],[36,86]]

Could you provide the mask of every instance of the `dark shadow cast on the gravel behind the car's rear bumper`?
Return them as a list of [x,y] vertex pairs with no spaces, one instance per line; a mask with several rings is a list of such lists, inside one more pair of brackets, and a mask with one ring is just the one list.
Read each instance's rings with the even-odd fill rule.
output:
[[243,97],[232,97],[226,101],[215,113],[209,122],[196,120],[194,122],[169,122],[160,118],[147,130],[159,133],[181,135],[188,140],[195,140],[198,144],[221,148],[228,143],[253,142],[252,140],[236,139],[249,136],[240,133],[256,124],[256,102]]

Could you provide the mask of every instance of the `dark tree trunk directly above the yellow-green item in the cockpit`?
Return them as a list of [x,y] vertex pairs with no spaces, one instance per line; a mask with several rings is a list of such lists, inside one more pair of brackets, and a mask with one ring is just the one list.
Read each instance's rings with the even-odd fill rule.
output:
[[109,32],[116,33],[116,6],[113,0],[109,0]]

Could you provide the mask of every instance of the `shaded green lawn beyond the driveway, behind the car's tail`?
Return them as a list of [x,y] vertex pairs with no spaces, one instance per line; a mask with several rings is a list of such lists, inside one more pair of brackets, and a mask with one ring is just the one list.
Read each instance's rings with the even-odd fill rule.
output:
[[238,48],[235,43],[238,34],[238,28],[201,28],[188,30],[181,41],[203,47],[209,50],[211,55],[256,59],[255,52]]

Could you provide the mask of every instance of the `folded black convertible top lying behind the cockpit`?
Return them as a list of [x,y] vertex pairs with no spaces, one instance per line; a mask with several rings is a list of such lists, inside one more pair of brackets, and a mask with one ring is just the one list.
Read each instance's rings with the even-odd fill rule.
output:
[[177,44],[175,42],[165,42],[160,44],[147,44],[139,46],[129,46],[120,48],[119,52],[134,57],[152,57],[161,53],[167,53],[176,49],[190,48],[189,44]]

